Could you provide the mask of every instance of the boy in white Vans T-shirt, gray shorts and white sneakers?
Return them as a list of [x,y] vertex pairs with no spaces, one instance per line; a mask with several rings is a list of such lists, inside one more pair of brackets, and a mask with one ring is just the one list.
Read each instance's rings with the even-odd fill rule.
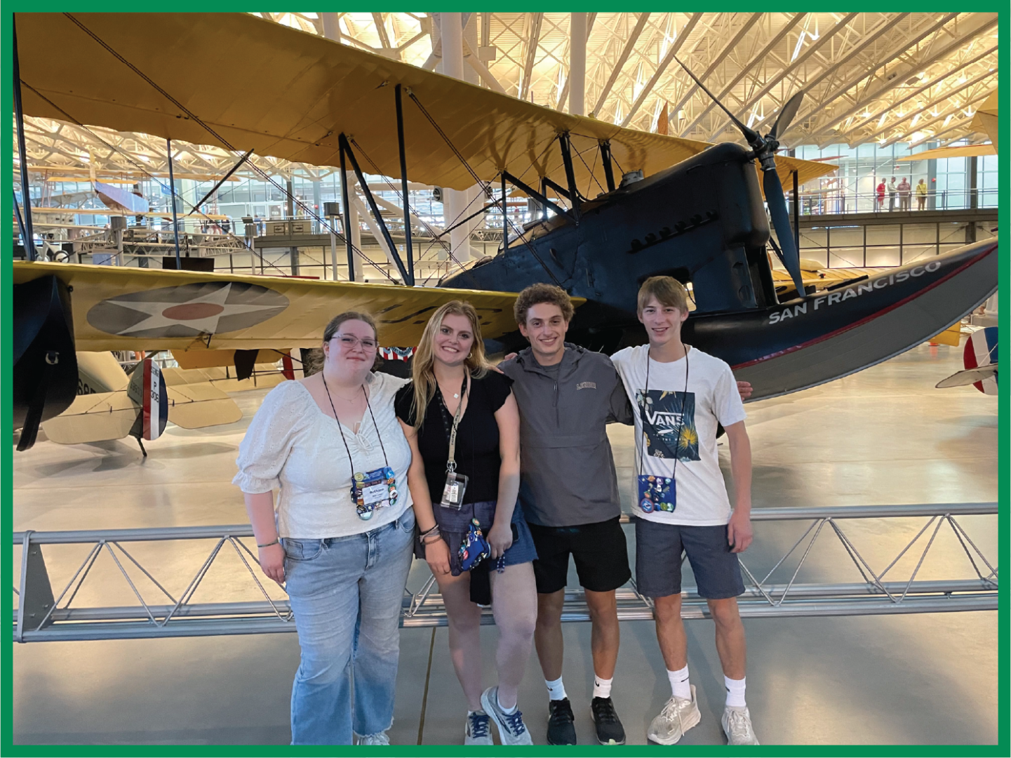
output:
[[[757,745],[744,700],[744,592],[737,554],[751,543],[751,447],[744,407],[730,366],[681,342],[687,292],[670,276],[643,282],[639,321],[649,344],[612,356],[632,401],[636,430],[636,584],[653,598],[656,637],[672,696],[648,737],[673,745],[702,715],[688,683],[687,638],[681,622],[681,555],[716,622],[727,703],[721,724],[731,745]],[[727,431],[734,508],[716,450]]]

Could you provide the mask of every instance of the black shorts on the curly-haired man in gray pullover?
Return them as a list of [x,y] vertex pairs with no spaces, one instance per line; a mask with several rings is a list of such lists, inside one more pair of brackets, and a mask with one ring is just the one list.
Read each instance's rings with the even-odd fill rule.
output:
[[549,594],[564,589],[568,579],[568,557],[575,561],[583,589],[610,592],[632,578],[628,545],[618,517],[578,526],[530,524],[537,548],[534,577],[537,591]]

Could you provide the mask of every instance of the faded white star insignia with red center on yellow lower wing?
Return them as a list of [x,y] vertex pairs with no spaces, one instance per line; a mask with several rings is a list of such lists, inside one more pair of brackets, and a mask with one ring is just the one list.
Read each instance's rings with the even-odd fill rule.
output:
[[201,281],[103,300],[88,323],[120,337],[199,337],[248,329],[287,307],[287,298],[259,284]]

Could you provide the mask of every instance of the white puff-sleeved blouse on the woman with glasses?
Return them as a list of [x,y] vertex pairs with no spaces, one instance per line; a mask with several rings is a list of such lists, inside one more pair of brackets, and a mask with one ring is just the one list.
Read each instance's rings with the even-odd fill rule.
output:
[[[280,490],[275,504],[280,536],[359,534],[399,518],[410,507],[410,446],[393,412],[393,398],[405,380],[370,373],[367,382],[375,423],[366,409],[357,434],[344,425],[339,429],[299,382],[282,382],[271,390],[250,422],[232,483],[250,494]],[[356,472],[381,469],[388,460],[396,475],[396,503],[379,508],[367,521],[358,517],[351,498],[353,472],[341,429]]]

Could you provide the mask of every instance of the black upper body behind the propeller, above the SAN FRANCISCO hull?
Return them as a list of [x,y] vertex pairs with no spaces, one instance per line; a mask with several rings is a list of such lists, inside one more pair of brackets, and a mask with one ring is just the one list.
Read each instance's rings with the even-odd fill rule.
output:
[[635,330],[636,293],[649,276],[691,281],[696,315],[775,304],[754,164],[731,143],[585,201],[578,218],[569,210],[528,225],[523,237],[440,284],[519,291],[538,281],[557,283],[586,299],[573,334],[607,332],[611,339],[600,347]]

